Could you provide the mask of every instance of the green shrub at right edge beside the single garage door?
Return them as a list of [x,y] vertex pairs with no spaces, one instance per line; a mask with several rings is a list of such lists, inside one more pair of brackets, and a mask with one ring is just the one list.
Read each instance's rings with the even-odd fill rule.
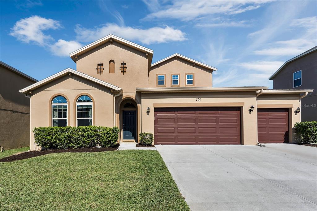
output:
[[317,143],[317,122],[296,122],[295,131],[301,143]]

